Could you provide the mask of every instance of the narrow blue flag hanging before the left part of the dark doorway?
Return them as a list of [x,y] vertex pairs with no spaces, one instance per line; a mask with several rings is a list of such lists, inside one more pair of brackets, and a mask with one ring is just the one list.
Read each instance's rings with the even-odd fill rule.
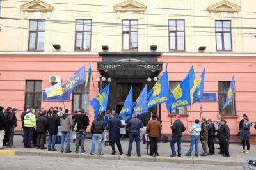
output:
[[132,116],[132,86],[119,114],[120,120],[127,120]]

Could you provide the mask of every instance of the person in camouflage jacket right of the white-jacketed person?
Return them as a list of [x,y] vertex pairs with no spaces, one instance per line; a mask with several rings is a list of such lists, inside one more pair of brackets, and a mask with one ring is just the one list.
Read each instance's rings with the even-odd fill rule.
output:
[[206,118],[202,118],[200,140],[204,153],[201,156],[207,156],[207,139],[208,139],[208,124]]

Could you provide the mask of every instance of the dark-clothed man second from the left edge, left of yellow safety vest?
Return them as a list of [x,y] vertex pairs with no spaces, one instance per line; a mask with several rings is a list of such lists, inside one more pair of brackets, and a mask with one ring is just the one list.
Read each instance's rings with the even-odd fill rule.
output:
[[16,113],[17,109],[13,108],[8,117],[8,148],[16,148],[13,146],[14,128],[17,127]]

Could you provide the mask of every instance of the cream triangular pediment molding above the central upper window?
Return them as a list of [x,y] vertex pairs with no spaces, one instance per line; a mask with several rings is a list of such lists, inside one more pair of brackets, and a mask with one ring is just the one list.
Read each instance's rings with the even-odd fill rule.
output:
[[127,11],[145,12],[145,10],[147,9],[147,6],[133,0],[127,0],[127,1],[124,1],[123,3],[116,4],[114,6],[114,9],[116,12],[127,12]]

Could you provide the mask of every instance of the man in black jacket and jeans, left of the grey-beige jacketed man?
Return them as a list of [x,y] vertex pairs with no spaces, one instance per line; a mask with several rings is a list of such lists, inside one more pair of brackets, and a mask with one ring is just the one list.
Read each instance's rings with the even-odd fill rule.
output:
[[60,117],[57,115],[58,111],[54,111],[52,116],[48,118],[48,132],[49,132],[49,142],[48,150],[56,151],[55,143],[58,134],[58,126],[60,126]]

